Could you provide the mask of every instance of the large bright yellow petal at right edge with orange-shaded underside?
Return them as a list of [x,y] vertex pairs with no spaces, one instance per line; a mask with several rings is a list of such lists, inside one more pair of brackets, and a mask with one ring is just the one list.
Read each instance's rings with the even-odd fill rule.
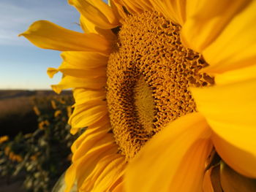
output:
[[256,177],[256,75],[249,69],[256,68],[216,75],[213,87],[191,90],[197,110],[215,132],[219,155],[236,172]]

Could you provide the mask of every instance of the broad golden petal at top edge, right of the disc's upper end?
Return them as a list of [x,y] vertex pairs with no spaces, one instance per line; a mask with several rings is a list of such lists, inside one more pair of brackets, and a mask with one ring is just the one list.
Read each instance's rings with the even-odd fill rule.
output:
[[[202,53],[248,3],[249,0],[232,1],[232,3],[230,0],[188,1],[187,21],[181,31],[182,42],[192,50]],[[241,26],[241,23],[238,23],[237,26]],[[230,34],[233,34],[233,31],[230,31]],[[220,47],[219,53],[224,48]],[[207,58],[206,61],[208,61]],[[208,63],[211,64],[211,62]]]

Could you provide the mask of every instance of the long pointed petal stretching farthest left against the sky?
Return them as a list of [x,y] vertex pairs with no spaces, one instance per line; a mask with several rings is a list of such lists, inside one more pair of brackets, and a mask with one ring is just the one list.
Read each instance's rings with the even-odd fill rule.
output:
[[37,47],[44,49],[110,53],[109,42],[104,37],[97,34],[81,34],[70,31],[47,20],[33,23],[28,31],[20,34],[20,36],[26,37]]

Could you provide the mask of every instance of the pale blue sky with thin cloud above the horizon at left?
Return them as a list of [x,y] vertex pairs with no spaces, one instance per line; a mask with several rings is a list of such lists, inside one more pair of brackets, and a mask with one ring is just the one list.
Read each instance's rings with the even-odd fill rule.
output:
[[48,67],[61,64],[60,52],[43,50],[18,37],[36,20],[81,31],[79,13],[65,0],[0,1],[0,89],[49,89],[61,75],[50,79]]

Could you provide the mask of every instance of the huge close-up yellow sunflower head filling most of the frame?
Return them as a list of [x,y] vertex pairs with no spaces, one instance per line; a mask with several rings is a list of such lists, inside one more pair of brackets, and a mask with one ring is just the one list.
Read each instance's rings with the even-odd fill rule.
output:
[[63,51],[52,88],[74,88],[72,134],[88,127],[66,191],[255,191],[256,1],[69,4],[84,33],[21,34]]

